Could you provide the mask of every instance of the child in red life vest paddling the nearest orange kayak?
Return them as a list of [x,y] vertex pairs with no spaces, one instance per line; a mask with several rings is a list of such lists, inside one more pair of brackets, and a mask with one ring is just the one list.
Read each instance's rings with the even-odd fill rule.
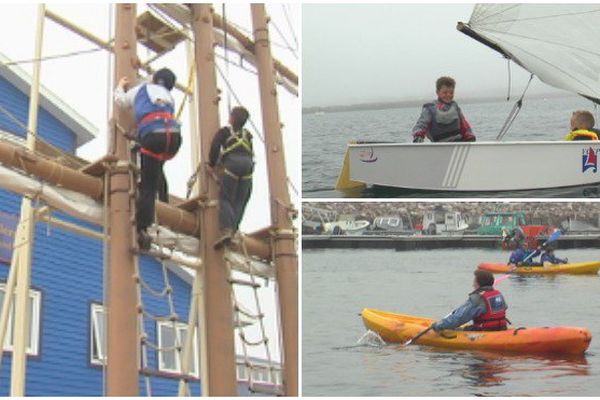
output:
[[435,322],[432,329],[439,332],[444,329],[456,329],[473,320],[466,326],[468,331],[502,331],[506,329],[506,309],[502,293],[494,289],[494,275],[489,271],[474,272],[473,288],[467,301],[452,311],[441,321]]

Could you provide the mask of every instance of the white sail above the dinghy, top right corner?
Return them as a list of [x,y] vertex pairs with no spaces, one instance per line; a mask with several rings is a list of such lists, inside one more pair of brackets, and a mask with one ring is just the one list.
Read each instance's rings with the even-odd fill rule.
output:
[[478,4],[467,26],[548,85],[600,102],[600,4]]

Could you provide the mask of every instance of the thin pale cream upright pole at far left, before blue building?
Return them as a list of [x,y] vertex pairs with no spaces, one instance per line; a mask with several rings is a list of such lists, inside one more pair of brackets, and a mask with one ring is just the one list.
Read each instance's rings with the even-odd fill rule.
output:
[[[42,57],[42,39],[44,36],[44,9],[45,5],[38,6],[36,36],[35,36],[35,56],[37,60],[33,64],[33,75],[31,79],[31,89],[29,95],[29,116],[27,118],[27,148],[35,151],[35,136],[33,132],[37,131],[38,107],[39,107],[39,89],[40,89],[40,70]],[[29,285],[31,283],[31,251],[35,233],[35,219],[31,200],[23,198],[21,200],[21,214],[19,225],[17,227],[14,239],[13,257],[17,257],[16,267],[16,290],[15,290],[15,311],[14,311],[14,343],[12,354],[12,368],[10,381],[11,396],[25,396],[25,380],[27,370],[27,339],[29,338]],[[12,263],[11,263],[12,264]],[[12,271],[11,271],[12,272]],[[6,292],[5,298],[12,296],[12,292]],[[0,343],[4,345],[4,343]]]

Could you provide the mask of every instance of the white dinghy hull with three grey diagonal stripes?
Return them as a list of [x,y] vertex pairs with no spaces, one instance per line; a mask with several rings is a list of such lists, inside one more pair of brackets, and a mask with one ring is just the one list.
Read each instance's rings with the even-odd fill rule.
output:
[[433,191],[537,190],[600,183],[600,142],[361,143],[350,180]]

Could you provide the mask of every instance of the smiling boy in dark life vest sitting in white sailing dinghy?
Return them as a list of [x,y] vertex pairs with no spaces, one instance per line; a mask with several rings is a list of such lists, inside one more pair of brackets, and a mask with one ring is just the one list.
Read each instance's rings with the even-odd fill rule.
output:
[[412,130],[413,142],[474,142],[475,135],[454,99],[456,81],[442,76],[435,82],[437,100],[423,105]]

